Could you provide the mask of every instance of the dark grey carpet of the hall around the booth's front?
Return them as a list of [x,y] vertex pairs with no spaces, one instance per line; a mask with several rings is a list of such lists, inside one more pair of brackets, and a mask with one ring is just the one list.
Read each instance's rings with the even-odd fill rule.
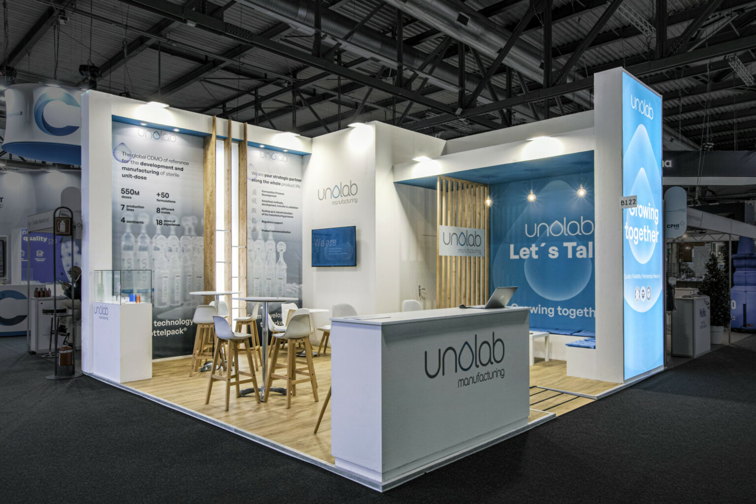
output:
[[23,348],[0,338],[0,502],[756,500],[756,336],[383,495]]

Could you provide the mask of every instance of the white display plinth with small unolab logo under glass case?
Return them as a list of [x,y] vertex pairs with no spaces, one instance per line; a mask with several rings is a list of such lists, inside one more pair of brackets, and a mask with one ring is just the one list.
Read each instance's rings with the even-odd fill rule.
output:
[[95,375],[125,383],[152,378],[152,305],[95,303]]

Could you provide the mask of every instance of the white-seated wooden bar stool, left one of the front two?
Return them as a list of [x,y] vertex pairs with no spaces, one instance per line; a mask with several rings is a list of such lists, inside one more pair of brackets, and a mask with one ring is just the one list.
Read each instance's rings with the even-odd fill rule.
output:
[[[215,345],[215,354],[212,356],[212,368],[210,369],[210,379],[207,383],[207,395],[205,397],[205,404],[210,402],[210,393],[212,392],[212,382],[222,381],[226,382],[226,411],[228,411],[228,397],[231,391],[231,385],[234,385],[237,389],[237,397],[239,397],[239,385],[243,383],[252,382],[255,389],[255,397],[257,402],[260,402],[260,389],[257,386],[257,378],[252,363],[252,352],[249,350],[249,345],[245,345],[243,348],[246,353],[246,362],[249,364],[249,373],[239,369],[239,344],[246,339],[249,339],[248,334],[243,332],[232,332],[231,326],[223,317],[215,315],[213,321],[215,323],[215,337],[218,338],[218,345]],[[227,345],[226,348],[226,370],[225,373],[215,373],[215,369],[220,363],[221,347]],[[249,376],[247,379],[241,379],[242,376]]]

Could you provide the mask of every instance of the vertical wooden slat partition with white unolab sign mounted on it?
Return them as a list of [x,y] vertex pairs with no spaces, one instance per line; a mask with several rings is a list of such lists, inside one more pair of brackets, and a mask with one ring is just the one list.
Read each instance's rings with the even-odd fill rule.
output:
[[438,255],[436,240],[436,306],[481,305],[488,299],[488,186],[457,178],[436,181],[438,226],[475,227],[485,230],[485,257]]

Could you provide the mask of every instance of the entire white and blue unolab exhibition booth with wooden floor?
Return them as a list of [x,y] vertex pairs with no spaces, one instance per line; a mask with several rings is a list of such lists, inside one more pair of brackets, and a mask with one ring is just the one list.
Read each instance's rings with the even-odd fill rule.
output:
[[657,373],[662,101],[594,82],[450,141],[85,92],[83,371],[376,490]]

